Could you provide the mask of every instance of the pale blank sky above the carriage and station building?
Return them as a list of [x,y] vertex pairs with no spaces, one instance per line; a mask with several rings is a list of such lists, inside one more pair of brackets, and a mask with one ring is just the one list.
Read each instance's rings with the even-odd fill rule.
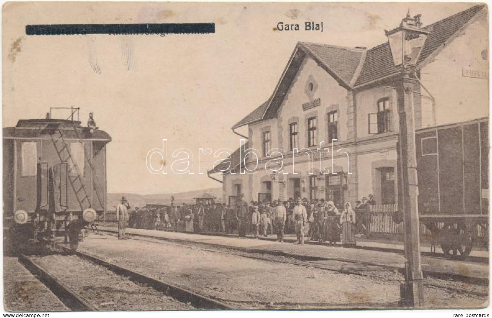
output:
[[[425,25],[473,3],[9,2],[3,7],[2,123],[44,118],[49,107],[80,107],[108,132],[109,192],[172,193],[221,184],[207,177],[235,150],[231,127],[272,94],[298,41],[373,47],[407,9]],[[275,31],[278,22],[324,24],[324,32]],[[215,23],[208,35],[26,35],[28,24]],[[247,130],[239,129],[243,134]],[[171,154],[193,154],[194,174],[153,174],[146,157],[167,139]],[[182,158],[182,157],[179,157]],[[161,159],[152,157],[154,168]],[[183,167],[178,165],[177,167]],[[219,175],[215,177],[220,178]]]

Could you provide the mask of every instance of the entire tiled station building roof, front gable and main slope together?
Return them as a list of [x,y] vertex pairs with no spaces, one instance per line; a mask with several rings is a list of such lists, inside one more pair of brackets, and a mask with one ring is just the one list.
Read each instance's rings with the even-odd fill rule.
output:
[[[418,66],[422,67],[429,63],[449,42],[460,35],[480,12],[485,10],[484,4],[476,5],[425,27],[424,29],[431,32],[426,39]],[[307,56],[311,57],[347,90],[363,87],[399,72],[399,68],[393,64],[388,42],[369,50],[360,47],[348,48],[298,42],[274,94],[232,128],[275,118],[293,78]]]

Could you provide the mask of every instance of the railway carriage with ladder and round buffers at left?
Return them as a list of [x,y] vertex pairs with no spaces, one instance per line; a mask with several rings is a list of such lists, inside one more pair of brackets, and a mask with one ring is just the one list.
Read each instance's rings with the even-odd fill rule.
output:
[[[81,230],[106,210],[106,145],[111,137],[71,116],[20,120],[3,128],[3,218],[15,244],[65,236],[77,248]],[[78,116],[77,116],[78,119]]]

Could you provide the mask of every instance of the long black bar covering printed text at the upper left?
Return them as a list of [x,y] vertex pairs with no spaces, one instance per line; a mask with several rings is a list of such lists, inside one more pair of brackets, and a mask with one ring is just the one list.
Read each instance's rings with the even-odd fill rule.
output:
[[215,23],[39,24],[26,26],[27,35],[208,33],[215,33]]

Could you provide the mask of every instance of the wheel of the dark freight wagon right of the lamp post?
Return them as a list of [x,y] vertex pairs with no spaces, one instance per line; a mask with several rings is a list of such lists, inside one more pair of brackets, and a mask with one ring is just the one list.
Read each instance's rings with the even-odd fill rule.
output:
[[464,228],[463,233],[459,229],[446,228],[439,235],[442,252],[448,257],[466,257],[473,248],[473,239],[470,231]]

